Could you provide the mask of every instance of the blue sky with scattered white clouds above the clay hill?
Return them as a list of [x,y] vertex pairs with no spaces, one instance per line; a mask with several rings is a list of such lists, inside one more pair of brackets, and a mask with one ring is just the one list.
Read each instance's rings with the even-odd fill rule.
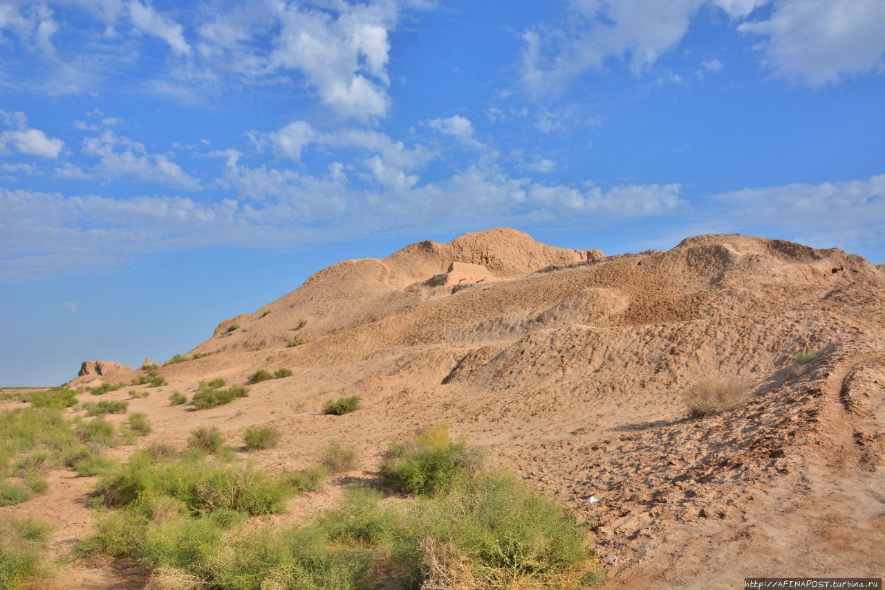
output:
[[0,0],[0,384],[511,226],[885,262],[882,0]]

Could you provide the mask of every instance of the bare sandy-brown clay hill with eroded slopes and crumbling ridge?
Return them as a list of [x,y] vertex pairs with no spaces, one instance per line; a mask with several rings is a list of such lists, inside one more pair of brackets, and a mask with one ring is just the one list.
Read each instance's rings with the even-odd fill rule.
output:
[[[605,257],[493,229],[326,268],[195,353],[130,401],[154,423],[140,445],[270,424],[283,442],[256,457],[266,468],[306,466],[340,439],[360,453],[353,477],[373,477],[389,440],[445,421],[595,524],[609,586],[885,571],[885,272],[856,255],[714,235]],[[73,384],[133,375],[105,368]],[[279,368],[294,377],[223,407],[167,401]],[[683,394],[710,379],[749,398],[690,417]],[[321,414],[349,395],[363,408]],[[281,518],[333,505],[348,481]],[[12,508],[55,516],[64,543],[89,526],[88,489],[69,478]]]

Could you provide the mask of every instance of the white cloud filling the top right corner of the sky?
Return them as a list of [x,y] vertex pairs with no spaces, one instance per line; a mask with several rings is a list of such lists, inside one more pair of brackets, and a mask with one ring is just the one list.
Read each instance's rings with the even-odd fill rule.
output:
[[812,86],[885,63],[881,0],[779,0],[768,19],[738,30],[764,38],[766,65],[775,73]]

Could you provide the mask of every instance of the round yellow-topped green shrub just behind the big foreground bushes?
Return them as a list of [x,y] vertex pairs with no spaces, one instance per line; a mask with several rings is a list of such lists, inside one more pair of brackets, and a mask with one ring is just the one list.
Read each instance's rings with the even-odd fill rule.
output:
[[405,492],[435,495],[449,492],[481,469],[481,456],[461,441],[452,441],[447,424],[420,431],[405,443],[391,443],[381,474]]

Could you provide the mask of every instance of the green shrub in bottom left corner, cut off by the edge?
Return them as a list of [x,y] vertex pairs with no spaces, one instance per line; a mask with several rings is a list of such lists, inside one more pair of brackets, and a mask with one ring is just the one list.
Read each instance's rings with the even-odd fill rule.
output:
[[49,526],[0,516],[0,588],[49,587],[49,541]]

